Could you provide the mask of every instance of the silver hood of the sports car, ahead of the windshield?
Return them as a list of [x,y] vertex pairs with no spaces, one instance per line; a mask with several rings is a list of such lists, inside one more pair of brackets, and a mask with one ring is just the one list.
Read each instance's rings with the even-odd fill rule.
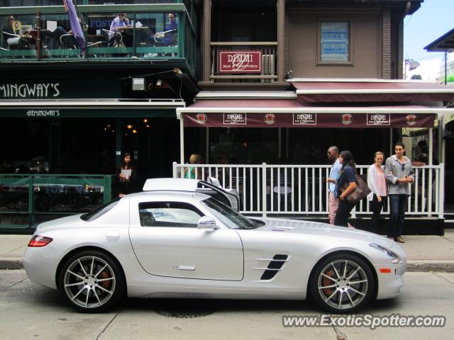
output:
[[262,217],[254,217],[254,220],[261,220],[265,222],[265,225],[256,230],[284,232],[289,234],[310,234],[344,239],[358,239],[360,241],[379,244],[380,246],[385,246],[387,248],[391,248],[394,244],[392,240],[372,232],[365,232],[360,229],[346,227],[334,227],[333,225],[328,225],[327,223]]

